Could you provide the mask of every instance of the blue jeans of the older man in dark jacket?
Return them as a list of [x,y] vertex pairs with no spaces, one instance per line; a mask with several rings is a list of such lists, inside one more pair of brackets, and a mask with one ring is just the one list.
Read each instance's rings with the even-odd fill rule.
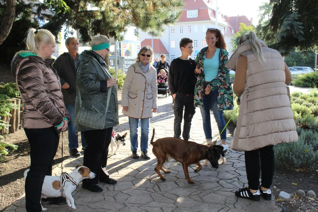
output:
[[[65,106],[68,112],[70,113],[71,120],[67,123],[68,128],[68,148],[76,149],[79,147],[78,135],[75,130],[75,105],[66,105]],[[84,133],[81,133],[82,147],[87,147],[87,143],[84,138]]]

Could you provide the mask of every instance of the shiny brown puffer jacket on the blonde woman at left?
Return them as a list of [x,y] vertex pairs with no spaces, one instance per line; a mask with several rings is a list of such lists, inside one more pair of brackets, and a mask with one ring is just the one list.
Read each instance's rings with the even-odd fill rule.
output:
[[48,128],[70,120],[59,76],[52,65],[37,56],[17,55],[11,72],[23,101],[23,128]]

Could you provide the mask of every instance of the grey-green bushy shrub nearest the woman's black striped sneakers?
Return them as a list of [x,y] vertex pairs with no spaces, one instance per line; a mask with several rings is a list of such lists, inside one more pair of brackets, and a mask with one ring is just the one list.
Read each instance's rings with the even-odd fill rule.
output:
[[316,133],[301,131],[297,142],[274,146],[275,165],[288,169],[315,169],[318,165],[318,151],[312,146],[316,142],[312,142],[313,135]]

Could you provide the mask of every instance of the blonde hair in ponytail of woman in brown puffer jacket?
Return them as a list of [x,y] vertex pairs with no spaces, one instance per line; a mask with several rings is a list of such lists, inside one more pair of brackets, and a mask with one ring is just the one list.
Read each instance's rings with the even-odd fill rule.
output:
[[[48,30],[45,29],[34,29],[30,28],[28,30],[28,35],[26,37],[26,47],[27,50],[18,51],[14,57],[23,52],[30,52],[33,54],[38,54],[38,48],[42,44],[52,44],[55,41],[55,36]],[[14,58],[13,57],[13,58]]]

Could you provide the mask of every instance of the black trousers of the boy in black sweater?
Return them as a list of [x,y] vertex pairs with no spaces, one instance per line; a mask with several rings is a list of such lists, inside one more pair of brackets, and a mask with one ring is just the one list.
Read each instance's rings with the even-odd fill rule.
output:
[[[176,97],[173,102],[173,110],[175,114],[174,120],[174,137],[180,138],[181,135],[181,123],[182,123],[182,115],[183,115],[183,140],[189,140],[190,138],[190,129],[191,129],[191,120],[193,118],[196,109],[193,105],[193,94],[185,94],[185,93],[176,93]],[[184,108],[184,114],[183,114]]]

